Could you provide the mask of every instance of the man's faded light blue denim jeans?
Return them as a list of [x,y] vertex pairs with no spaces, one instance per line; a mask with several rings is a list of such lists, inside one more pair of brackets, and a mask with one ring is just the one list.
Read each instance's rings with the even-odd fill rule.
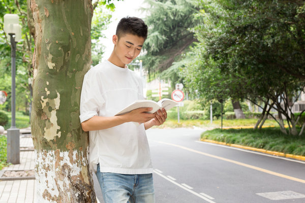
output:
[[97,167],[105,203],[154,203],[153,174],[126,175],[101,173]]

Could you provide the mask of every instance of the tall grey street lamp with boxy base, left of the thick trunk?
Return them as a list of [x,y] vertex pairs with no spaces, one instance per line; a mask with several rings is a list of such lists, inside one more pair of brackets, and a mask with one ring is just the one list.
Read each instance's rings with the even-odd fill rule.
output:
[[4,31],[11,38],[12,56],[12,119],[11,127],[7,130],[7,162],[20,163],[20,132],[16,128],[16,43],[21,40],[21,26],[17,14],[4,15]]

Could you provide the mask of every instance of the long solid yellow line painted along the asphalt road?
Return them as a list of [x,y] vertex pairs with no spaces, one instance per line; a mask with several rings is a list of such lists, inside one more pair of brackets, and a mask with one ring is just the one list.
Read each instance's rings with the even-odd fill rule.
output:
[[242,163],[242,162],[234,161],[232,159],[224,158],[224,157],[221,157],[221,156],[216,156],[216,155],[200,152],[200,151],[197,151],[197,150],[194,150],[194,149],[190,149],[190,148],[180,146],[180,145],[175,145],[175,144],[172,144],[172,143],[165,143],[165,142],[159,142],[159,141],[156,141],[156,142],[161,143],[161,144],[165,144],[165,145],[171,145],[171,146],[174,146],[174,147],[178,147],[180,149],[188,150],[190,152],[194,152],[194,153],[202,154],[202,155],[205,155],[205,156],[208,156],[208,157],[212,157],[212,158],[220,159],[220,160],[223,160],[223,161],[231,162],[231,163],[234,163],[234,164],[237,164],[237,165],[252,168],[254,170],[257,170],[257,171],[260,171],[260,172],[263,172],[263,173],[266,173],[266,174],[270,174],[270,175],[273,175],[273,176],[278,176],[278,177],[281,177],[281,178],[286,178],[288,180],[292,180],[292,181],[296,181],[296,182],[300,182],[300,183],[305,184],[305,180],[295,178],[295,177],[292,177],[292,176],[287,176],[287,175],[280,174],[280,173],[277,173],[277,172],[272,172],[272,171],[266,170],[264,168],[257,167],[257,166],[254,166],[254,165],[250,165],[250,164],[247,164],[247,163]]

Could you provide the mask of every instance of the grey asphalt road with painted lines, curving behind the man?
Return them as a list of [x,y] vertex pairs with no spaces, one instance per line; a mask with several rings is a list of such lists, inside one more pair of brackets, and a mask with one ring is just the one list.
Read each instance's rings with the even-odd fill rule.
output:
[[147,130],[156,202],[305,202],[305,162],[198,142],[202,131]]

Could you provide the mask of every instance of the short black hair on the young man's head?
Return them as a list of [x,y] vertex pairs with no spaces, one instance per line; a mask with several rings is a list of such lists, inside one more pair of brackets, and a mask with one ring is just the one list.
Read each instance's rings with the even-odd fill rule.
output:
[[146,40],[147,25],[141,18],[129,16],[124,17],[118,22],[115,35],[120,38],[126,34],[136,35]]

